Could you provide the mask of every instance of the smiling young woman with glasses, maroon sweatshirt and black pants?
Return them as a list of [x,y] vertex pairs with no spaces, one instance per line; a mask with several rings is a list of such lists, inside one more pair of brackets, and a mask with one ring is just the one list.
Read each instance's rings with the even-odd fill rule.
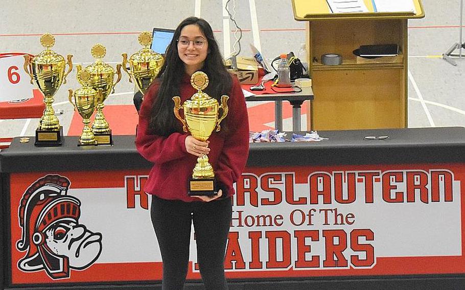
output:
[[[221,95],[229,96],[229,113],[221,122],[221,131],[212,133],[206,142],[184,133],[173,113],[173,96],[180,96],[182,104],[196,92],[190,78],[197,70],[209,79],[204,92],[219,103]],[[159,77],[144,96],[136,137],[139,153],[154,163],[144,190],[152,195],[151,218],[163,260],[163,290],[183,288],[191,223],[205,289],[227,289],[224,253],[231,222],[230,197],[247,161],[248,135],[241,86],[224,67],[211,26],[201,18],[184,19],[167,48]],[[188,181],[201,154],[208,154],[221,184],[213,197],[188,196]]]

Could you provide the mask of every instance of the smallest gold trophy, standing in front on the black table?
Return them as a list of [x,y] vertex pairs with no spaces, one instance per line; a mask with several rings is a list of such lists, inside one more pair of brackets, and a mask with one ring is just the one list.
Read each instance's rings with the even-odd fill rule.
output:
[[100,88],[99,91],[96,91],[89,86],[90,75],[86,70],[81,70],[79,78],[84,82],[84,86],[77,89],[74,94],[72,89],[68,89],[69,103],[71,103],[75,110],[81,115],[82,123],[84,124],[81,136],[79,137],[78,146],[97,145],[97,140],[89,124],[90,117],[94,113],[99,100],[102,99],[102,89]]

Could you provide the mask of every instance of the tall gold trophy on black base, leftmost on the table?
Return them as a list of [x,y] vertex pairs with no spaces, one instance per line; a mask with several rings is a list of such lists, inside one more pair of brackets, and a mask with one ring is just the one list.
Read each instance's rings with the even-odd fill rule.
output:
[[[55,37],[50,33],[45,33],[40,37],[40,43],[45,50],[34,57],[25,55],[24,69],[31,77],[31,84],[35,81],[39,90],[43,93],[45,110],[36,129],[36,146],[60,146],[62,143],[63,128],[55,116],[53,110],[53,96],[66,83],[66,76],[73,69],[71,58],[67,55],[67,62],[63,56],[52,51],[50,48],[55,44]],[[65,74],[66,63],[68,71]]]

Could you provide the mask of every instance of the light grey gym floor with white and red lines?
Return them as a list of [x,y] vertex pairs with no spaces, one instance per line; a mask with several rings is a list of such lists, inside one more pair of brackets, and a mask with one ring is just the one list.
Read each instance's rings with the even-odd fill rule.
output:
[[[456,66],[442,58],[454,44],[463,43],[460,39],[460,1],[423,0],[426,17],[408,22],[410,128],[465,125],[465,82],[462,76],[465,56],[454,58]],[[74,66],[94,62],[90,48],[95,43],[102,43],[107,48],[104,61],[115,67],[121,63],[122,53],[131,55],[140,49],[139,32],[151,31],[154,27],[175,28],[185,17],[195,15],[211,23],[220,49],[228,57],[237,52],[239,46],[235,45],[234,23],[228,20],[224,10],[227,2],[228,10],[235,14],[242,29],[239,55],[252,56],[249,44],[258,47],[265,58],[289,51],[297,54],[300,44],[305,42],[305,22],[294,20],[290,0],[18,0],[2,3],[0,53],[37,54],[42,50],[40,36],[49,32],[56,39],[53,49],[64,56],[73,54]],[[465,50],[462,53],[465,54]],[[80,87],[76,81],[76,68],[67,80],[55,95],[54,102],[55,110],[62,112],[58,117],[65,134],[73,116],[67,89]],[[134,86],[123,73],[115,93],[105,104],[132,104],[133,93]],[[249,102],[247,105],[263,104]],[[301,117],[305,129],[305,110]],[[33,136],[37,123],[38,119],[0,120],[0,137]],[[291,124],[291,118],[285,118],[284,130],[290,130]]]

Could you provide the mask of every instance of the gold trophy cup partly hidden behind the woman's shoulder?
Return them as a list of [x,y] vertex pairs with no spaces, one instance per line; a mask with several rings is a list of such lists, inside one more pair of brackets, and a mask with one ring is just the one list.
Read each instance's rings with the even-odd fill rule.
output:
[[[123,70],[129,75],[129,82],[135,80],[135,84],[142,94],[145,94],[153,79],[158,76],[165,59],[158,53],[154,52],[150,45],[152,43],[152,35],[148,31],[139,34],[137,38],[139,43],[144,46],[137,53],[131,55],[128,61],[128,55],[123,56]],[[129,70],[127,63],[129,62]]]

